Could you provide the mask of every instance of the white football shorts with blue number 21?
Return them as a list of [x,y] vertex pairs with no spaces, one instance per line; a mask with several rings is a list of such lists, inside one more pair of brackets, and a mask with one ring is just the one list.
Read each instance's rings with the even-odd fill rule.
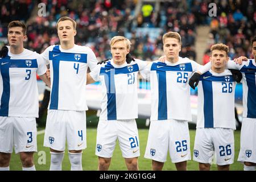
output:
[[112,158],[117,139],[123,158],[136,158],[140,155],[135,119],[99,121],[95,154],[102,158]]

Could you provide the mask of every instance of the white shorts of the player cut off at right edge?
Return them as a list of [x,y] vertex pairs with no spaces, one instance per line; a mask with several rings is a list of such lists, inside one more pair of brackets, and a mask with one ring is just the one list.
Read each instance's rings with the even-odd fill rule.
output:
[[243,118],[240,152],[237,160],[256,163],[256,118]]

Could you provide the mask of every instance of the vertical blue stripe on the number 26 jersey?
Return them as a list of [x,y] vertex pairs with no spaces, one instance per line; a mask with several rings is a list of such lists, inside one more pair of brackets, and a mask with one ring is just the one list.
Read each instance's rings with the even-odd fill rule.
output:
[[212,81],[203,80],[204,92],[204,127],[213,127],[213,93]]

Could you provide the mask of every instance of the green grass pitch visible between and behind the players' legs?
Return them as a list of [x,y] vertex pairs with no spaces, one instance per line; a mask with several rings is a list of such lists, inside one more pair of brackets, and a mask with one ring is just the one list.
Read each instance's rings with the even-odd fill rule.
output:
[[[191,137],[191,151],[193,151],[195,131],[190,130]],[[144,158],[144,152],[146,149],[148,129],[139,129],[139,140],[141,156],[139,157],[139,169],[140,170],[151,170],[151,160]],[[43,147],[44,134],[38,135],[38,153],[34,154],[34,162],[36,170],[49,170],[51,156],[49,154],[49,148]],[[235,137],[235,158],[234,163],[230,166],[230,170],[243,170],[243,165],[237,162],[238,153],[240,149],[240,131],[234,132]],[[87,148],[82,153],[82,167],[83,170],[97,170],[98,158],[95,155],[96,147],[96,129],[87,129]],[[46,159],[44,161],[44,159]],[[45,164],[44,164],[45,162]],[[43,163],[43,164],[42,164]],[[192,160],[188,161],[188,170],[198,170],[198,163]],[[70,170],[70,164],[68,159],[68,151],[65,151],[62,168],[63,170]],[[22,166],[19,160],[19,155],[12,155],[10,170],[21,170]],[[125,162],[122,158],[121,150],[119,145],[115,147],[115,151],[110,164],[110,170],[127,170]],[[168,156],[167,162],[164,164],[163,170],[176,170],[175,165],[171,163],[170,157]],[[216,164],[212,165],[211,170],[217,170]]]

